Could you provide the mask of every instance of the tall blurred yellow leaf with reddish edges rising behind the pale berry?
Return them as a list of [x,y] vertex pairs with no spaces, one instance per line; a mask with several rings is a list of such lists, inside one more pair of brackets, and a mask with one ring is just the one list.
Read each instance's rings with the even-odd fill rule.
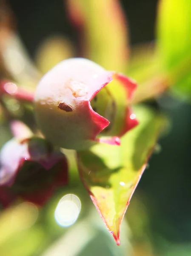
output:
[[119,1],[67,0],[81,32],[82,54],[108,70],[123,72],[128,58],[127,24]]

